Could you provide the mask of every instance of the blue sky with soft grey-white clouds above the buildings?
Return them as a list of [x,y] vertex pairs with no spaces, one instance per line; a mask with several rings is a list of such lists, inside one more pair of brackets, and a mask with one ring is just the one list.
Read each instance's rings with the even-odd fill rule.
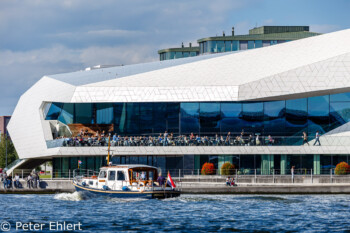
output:
[[349,0],[1,0],[0,116],[44,75],[159,60],[159,49],[255,26],[350,28]]

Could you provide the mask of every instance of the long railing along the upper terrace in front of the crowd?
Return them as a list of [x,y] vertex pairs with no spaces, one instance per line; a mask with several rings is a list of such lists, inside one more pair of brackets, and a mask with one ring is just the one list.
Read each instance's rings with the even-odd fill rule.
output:
[[[106,138],[61,138],[47,141],[47,147],[79,147],[79,146],[108,146]],[[112,147],[138,147],[138,146],[347,146],[350,145],[348,136],[322,135],[319,142],[315,136],[308,136],[306,140],[302,136],[270,136],[270,135],[240,135],[227,136],[198,136],[190,139],[188,136],[157,137],[131,136],[111,140]]]

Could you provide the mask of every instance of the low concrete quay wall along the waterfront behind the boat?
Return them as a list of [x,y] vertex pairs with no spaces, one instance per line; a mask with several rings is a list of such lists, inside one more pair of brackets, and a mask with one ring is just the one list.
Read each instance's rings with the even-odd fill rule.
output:
[[[302,179],[302,177],[297,177],[294,183],[239,182],[234,187],[226,186],[224,179],[218,180],[218,182],[216,182],[216,179],[214,179],[214,182],[213,180],[195,182],[182,179],[180,182],[178,181],[177,187],[183,193],[187,194],[350,194],[350,182],[344,182],[348,179],[335,179],[333,180],[335,181],[334,183],[302,183],[302,180],[306,180]],[[248,181],[251,180],[248,179]],[[25,181],[21,181],[24,188],[4,190],[3,186],[0,186],[0,194],[55,194],[74,192],[75,189],[71,182],[71,180],[42,180],[40,188],[28,189],[25,186]]]

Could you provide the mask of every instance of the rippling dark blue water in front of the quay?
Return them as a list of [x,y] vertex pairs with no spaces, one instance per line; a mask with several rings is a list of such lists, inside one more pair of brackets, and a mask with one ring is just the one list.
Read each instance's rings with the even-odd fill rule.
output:
[[[0,223],[81,222],[83,232],[350,232],[348,195],[182,195],[86,199],[0,195]],[[78,229],[78,228],[77,228]],[[1,230],[0,230],[1,232]],[[11,231],[14,232],[14,231]]]

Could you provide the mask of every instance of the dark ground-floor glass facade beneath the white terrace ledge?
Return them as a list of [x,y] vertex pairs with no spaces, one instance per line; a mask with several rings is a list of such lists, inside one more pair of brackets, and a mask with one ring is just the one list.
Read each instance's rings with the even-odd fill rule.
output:
[[[105,156],[65,157],[53,159],[53,177],[72,177],[73,171],[78,169],[78,160],[82,162],[79,169],[98,171],[106,166]],[[237,169],[238,174],[244,175],[288,175],[292,166],[295,174],[330,174],[340,162],[348,162],[349,155],[188,155],[188,156],[113,156],[113,164],[144,164],[161,169],[163,174],[168,171],[173,176],[179,174],[200,174],[204,163],[214,164],[216,173],[225,162],[230,162]],[[334,172],[334,170],[332,171]]]

